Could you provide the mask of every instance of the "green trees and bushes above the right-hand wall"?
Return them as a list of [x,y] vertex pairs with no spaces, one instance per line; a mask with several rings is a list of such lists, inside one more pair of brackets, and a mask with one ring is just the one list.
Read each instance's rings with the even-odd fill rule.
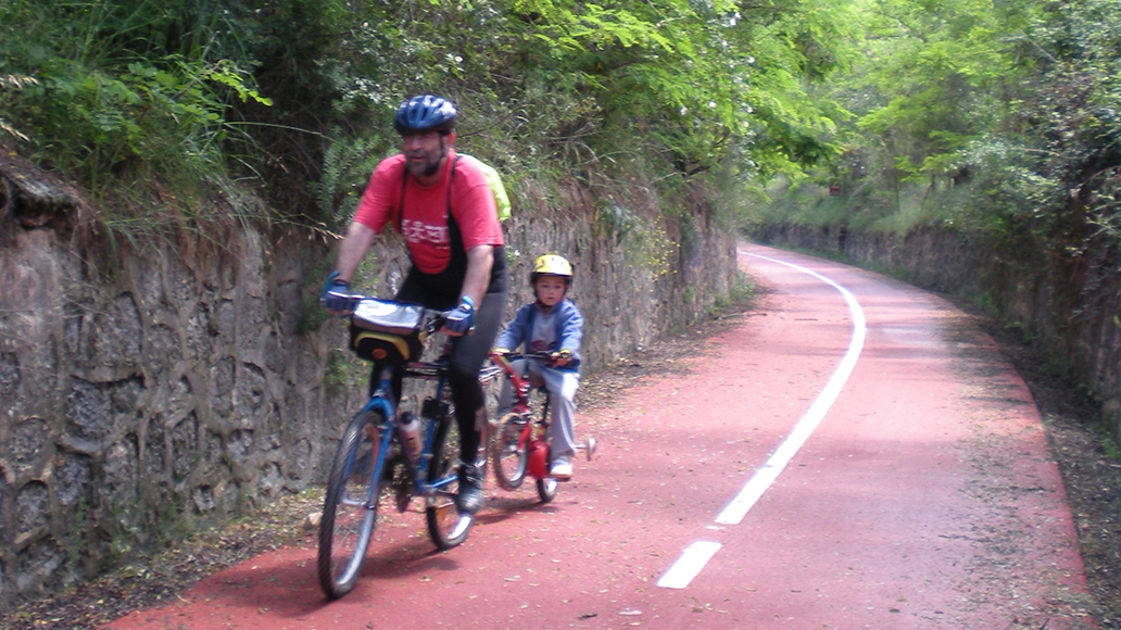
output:
[[832,159],[772,179],[757,219],[953,225],[1071,256],[1121,242],[1121,6],[859,6],[860,61],[813,93],[845,112],[819,137]]

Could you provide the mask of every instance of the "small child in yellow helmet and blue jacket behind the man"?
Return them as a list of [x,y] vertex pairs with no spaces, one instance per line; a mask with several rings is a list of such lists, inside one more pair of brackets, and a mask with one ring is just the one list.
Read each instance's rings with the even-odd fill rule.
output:
[[[553,456],[550,475],[565,481],[572,478],[572,456],[576,452],[573,425],[576,415],[576,389],[580,387],[580,342],[584,317],[567,297],[572,288],[572,265],[563,257],[545,254],[534,261],[529,284],[536,302],[518,309],[498,337],[494,352],[506,354],[525,344],[526,352],[548,352],[552,361],[521,359],[512,362],[535,386],[544,385],[549,393],[549,445]],[[502,383],[498,417],[509,410],[513,392],[510,381]]]

